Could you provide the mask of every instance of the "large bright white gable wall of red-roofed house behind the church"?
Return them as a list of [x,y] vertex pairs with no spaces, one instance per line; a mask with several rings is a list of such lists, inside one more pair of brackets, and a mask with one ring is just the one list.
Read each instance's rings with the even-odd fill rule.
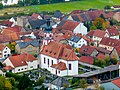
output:
[[84,26],[83,23],[80,23],[73,31],[74,33],[81,33],[82,35],[87,34],[87,28]]

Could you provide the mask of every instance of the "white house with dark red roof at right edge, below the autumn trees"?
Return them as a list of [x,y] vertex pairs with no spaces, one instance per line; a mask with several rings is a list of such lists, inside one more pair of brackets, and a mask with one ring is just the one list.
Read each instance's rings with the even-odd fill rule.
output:
[[119,39],[119,31],[115,26],[106,29],[110,38]]

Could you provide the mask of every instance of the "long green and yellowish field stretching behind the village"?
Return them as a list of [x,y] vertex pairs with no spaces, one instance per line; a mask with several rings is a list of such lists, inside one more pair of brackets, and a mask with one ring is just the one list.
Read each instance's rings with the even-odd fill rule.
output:
[[80,0],[76,2],[65,2],[58,4],[34,5],[19,8],[5,8],[0,10],[0,16],[4,13],[33,13],[42,11],[55,11],[61,10],[64,13],[69,13],[72,10],[87,10],[90,8],[103,9],[105,5],[120,5],[120,0]]

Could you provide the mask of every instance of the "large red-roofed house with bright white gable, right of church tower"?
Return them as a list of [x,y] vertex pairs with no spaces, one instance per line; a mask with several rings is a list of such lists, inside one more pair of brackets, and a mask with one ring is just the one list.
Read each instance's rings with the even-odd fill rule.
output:
[[82,35],[87,34],[87,28],[84,26],[83,23],[76,22],[76,21],[61,21],[58,26],[57,26],[57,32],[59,33],[66,33],[66,32],[71,32],[71,33],[79,33]]

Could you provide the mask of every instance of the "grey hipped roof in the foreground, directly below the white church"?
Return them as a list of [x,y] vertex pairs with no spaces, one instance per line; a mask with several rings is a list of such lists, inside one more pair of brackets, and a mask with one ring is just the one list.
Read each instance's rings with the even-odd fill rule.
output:
[[56,85],[58,87],[63,87],[64,84],[67,84],[69,86],[69,82],[65,80],[63,77],[57,77],[51,82],[51,84]]

